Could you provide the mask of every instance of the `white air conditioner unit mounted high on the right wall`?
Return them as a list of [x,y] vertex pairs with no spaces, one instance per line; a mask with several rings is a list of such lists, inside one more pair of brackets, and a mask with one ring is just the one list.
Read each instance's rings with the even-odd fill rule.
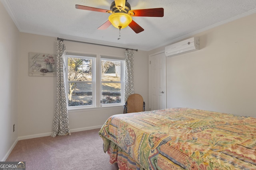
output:
[[199,49],[200,49],[199,37],[192,37],[184,41],[180,41],[178,43],[174,43],[172,45],[166,46],[165,55],[166,57],[172,57],[175,55],[180,55],[180,54],[188,53],[188,52],[199,50]]

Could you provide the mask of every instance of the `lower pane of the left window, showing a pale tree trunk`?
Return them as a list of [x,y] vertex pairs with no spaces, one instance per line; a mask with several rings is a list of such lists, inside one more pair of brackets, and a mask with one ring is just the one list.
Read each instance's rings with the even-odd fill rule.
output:
[[68,106],[92,105],[92,83],[68,83]]

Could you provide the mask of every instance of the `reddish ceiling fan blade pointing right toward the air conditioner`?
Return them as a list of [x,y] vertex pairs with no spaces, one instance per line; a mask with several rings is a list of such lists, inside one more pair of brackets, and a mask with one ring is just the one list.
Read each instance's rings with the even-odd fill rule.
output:
[[141,10],[130,10],[128,13],[133,12],[134,17],[163,17],[164,8],[151,8],[151,9],[141,9]]

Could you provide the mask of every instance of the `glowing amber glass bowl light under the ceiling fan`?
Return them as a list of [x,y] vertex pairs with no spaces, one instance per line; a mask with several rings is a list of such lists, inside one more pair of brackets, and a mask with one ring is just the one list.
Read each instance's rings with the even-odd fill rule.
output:
[[125,13],[114,13],[108,17],[112,25],[118,29],[127,27],[132,22],[132,17]]

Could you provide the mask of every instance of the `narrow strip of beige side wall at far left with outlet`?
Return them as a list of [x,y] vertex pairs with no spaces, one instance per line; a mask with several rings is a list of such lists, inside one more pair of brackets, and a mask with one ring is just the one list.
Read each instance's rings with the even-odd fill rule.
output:
[[[18,38],[19,31],[0,3],[0,161],[4,161],[18,137]],[[16,131],[13,132],[13,124]]]

